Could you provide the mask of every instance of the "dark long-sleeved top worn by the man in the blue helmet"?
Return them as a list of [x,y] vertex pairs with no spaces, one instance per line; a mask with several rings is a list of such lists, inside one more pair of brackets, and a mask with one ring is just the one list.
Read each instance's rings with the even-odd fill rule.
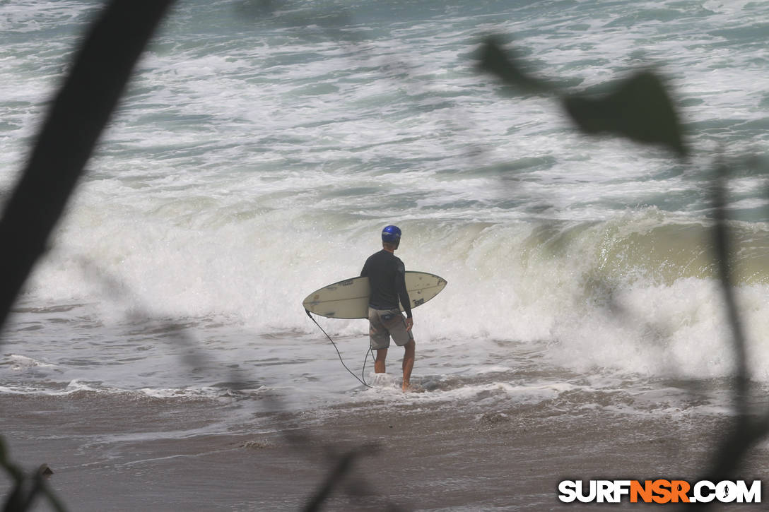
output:
[[406,316],[411,318],[411,301],[406,291],[406,268],[401,258],[384,249],[375,252],[363,265],[361,277],[368,277],[371,284],[371,298],[368,299],[371,308],[399,309],[400,298]]

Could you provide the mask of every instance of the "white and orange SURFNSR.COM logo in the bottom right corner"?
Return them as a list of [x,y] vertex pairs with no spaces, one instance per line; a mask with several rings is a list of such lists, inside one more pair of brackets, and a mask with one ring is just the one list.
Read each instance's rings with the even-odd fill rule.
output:
[[564,503],[761,503],[761,480],[563,480],[558,493]]

